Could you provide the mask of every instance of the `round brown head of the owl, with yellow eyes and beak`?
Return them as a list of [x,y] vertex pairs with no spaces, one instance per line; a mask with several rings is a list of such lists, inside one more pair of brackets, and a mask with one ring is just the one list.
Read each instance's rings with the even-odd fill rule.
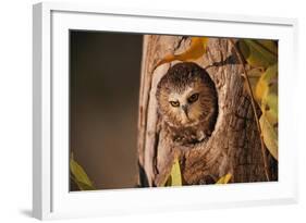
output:
[[194,126],[217,110],[217,92],[208,73],[196,63],[170,67],[157,87],[159,112],[172,126]]

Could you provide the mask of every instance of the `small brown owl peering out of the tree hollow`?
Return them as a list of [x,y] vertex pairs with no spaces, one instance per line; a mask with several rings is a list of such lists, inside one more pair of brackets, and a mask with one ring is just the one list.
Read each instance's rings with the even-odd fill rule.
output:
[[157,86],[158,112],[174,143],[191,145],[207,139],[218,115],[218,96],[209,74],[196,63],[170,67]]

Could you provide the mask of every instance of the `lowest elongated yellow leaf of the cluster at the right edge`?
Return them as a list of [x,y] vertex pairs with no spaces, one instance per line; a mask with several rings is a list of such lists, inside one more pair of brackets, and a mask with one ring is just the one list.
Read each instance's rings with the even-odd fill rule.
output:
[[265,145],[272,157],[278,160],[278,134],[273,126],[267,120],[265,113],[261,114],[259,119],[261,133],[264,137]]

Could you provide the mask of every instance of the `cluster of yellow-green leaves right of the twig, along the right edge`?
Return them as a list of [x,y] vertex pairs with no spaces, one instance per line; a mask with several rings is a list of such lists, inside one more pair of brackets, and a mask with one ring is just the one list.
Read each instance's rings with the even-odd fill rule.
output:
[[237,45],[250,66],[247,75],[261,110],[261,136],[266,148],[278,160],[278,44],[273,40],[241,39]]

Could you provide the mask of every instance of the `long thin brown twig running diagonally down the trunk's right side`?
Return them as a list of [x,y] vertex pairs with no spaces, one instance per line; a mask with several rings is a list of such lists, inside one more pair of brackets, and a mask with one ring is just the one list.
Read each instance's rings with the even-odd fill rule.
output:
[[244,65],[244,61],[242,59],[241,51],[236,48],[233,39],[230,39],[230,42],[232,44],[234,50],[236,51],[237,59],[238,59],[238,61],[240,61],[240,63],[242,64],[242,67],[243,67],[243,76],[246,80],[246,86],[248,88],[247,90],[248,90],[248,94],[250,96],[252,108],[253,108],[253,111],[254,111],[254,114],[255,114],[256,125],[257,125],[259,136],[260,136],[260,146],[261,146],[261,154],[262,154],[262,160],[264,160],[265,174],[266,174],[267,181],[269,182],[270,176],[269,176],[268,164],[267,164],[265,143],[264,143],[261,127],[260,127],[260,124],[259,124],[259,117],[258,117],[257,112],[256,112],[255,99],[254,99],[254,95],[253,95],[253,91],[252,91],[250,83],[249,83],[249,79],[248,79],[248,76],[247,76],[247,72],[246,72],[246,69],[245,69],[245,65]]

